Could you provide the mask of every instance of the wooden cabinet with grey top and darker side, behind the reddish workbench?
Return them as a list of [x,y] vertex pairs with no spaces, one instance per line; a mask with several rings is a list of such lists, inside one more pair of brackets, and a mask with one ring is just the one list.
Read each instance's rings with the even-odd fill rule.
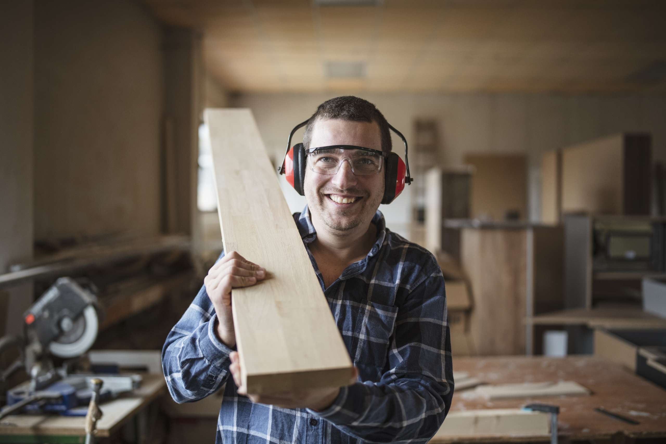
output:
[[535,314],[562,307],[561,227],[449,221],[472,292],[470,335],[478,355],[533,349]]

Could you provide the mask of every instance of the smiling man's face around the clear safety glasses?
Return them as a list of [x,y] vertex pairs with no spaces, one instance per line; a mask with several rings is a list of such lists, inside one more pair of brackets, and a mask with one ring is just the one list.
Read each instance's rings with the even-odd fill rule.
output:
[[[310,148],[330,145],[356,145],[382,149],[379,125],[376,122],[350,122],[340,119],[317,120],[312,128]],[[306,166],[304,189],[308,208],[334,232],[353,230],[370,224],[384,195],[384,168],[378,174],[356,176],[347,161],[336,174],[312,171]],[[352,203],[338,203],[332,198],[356,198]]]

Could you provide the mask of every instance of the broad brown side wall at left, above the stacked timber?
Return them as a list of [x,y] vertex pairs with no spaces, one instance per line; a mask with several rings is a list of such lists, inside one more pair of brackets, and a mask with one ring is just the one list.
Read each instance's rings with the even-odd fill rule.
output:
[[35,3],[35,239],[159,232],[161,43],[139,2]]

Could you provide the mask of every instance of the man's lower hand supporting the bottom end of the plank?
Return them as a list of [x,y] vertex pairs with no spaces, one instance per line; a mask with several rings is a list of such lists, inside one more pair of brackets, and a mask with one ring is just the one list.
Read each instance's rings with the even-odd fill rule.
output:
[[[304,389],[294,392],[282,392],[272,395],[254,395],[247,393],[246,387],[240,383],[240,359],[238,359],[238,352],[232,351],[229,355],[231,365],[229,370],[234,377],[236,387],[238,387],[239,395],[246,395],[250,401],[262,404],[272,404],[285,409],[312,409],[314,411],[322,411],[330,407],[340,393],[340,387],[326,387],[322,389]],[[353,374],[349,379],[349,384],[352,385],[357,381],[358,370],[354,367]]]

